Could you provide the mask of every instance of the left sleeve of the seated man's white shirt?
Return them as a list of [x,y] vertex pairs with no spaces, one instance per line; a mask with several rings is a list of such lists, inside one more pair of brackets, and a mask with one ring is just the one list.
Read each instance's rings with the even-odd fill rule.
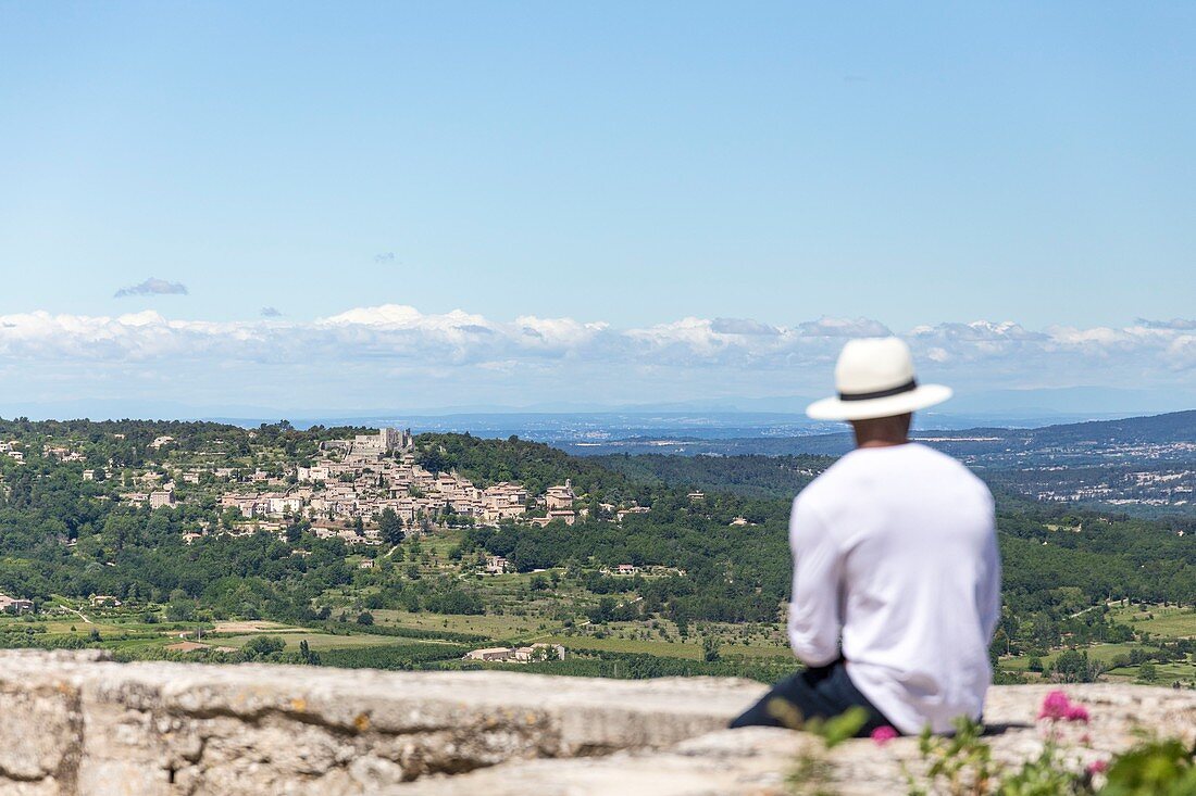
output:
[[838,659],[842,617],[842,558],[816,512],[800,497],[789,518],[793,550],[793,600],[789,602],[789,645],[807,666]]

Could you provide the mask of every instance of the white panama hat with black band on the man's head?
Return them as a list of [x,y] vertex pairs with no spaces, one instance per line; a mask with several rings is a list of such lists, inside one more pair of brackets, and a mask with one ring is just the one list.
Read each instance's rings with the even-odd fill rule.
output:
[[919,384],[909,345],[896,337],[848,341],[835,365],[838,396],[806,406],[814,420],[872,420],[941,404],[951,387]]

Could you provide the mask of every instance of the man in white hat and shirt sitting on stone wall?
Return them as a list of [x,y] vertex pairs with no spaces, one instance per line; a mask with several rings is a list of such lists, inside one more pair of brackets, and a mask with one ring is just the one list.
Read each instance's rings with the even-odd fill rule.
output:
[[807,666],[732,727],[800,727],[852,706],[861,734],[952,730],[978,720],[991,680],[988,644],[1001,611],[988,488],[954,459],[908,439],[911,412],[951,390],[919,385],[895,337],[850,341],[838,396],[806,410],[846,420],[856,447],[793,503],[788,633]]

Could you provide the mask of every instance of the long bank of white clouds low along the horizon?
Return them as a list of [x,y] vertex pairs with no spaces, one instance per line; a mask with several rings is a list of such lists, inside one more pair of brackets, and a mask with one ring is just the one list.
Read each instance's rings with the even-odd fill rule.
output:
[[[1196,322],[1026,329],[1013,322],[889,329],[868,318],[774,325],[687,317],[633,329],[600,320],[356,307],[311,322],[0,316],[0,379],[13,394],[160,394],[307,406],[530,405],[816,396],[850,337],[897,333],[921,375],[962,388],[1196,388]],[[292,404],[293,405],[293,404]]]

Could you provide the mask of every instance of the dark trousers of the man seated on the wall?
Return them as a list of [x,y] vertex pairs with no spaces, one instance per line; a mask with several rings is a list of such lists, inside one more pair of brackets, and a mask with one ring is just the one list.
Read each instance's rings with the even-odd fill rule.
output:
[[892,727],[868,698],[847,676],[840,659],[829,666],[816,666],[781,680],[764,698],[731,722],[737,727],[788,727],[801,729],[810,718],[832,718],[848,708],[864,708],[868,720],[858,735],[868,735],[878,727]]

